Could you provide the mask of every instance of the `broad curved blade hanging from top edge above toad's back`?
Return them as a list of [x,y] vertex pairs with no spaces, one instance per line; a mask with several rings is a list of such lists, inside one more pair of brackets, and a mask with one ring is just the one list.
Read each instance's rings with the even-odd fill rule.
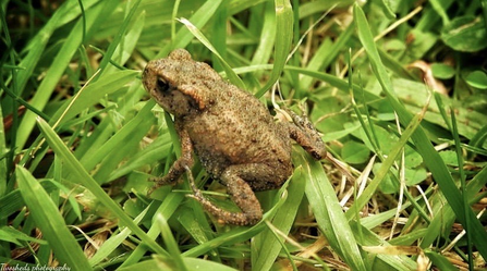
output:
[[255,95],[260,98],[281,76],[293,40],[293,11],[289,0],[276,0],[276,44],[269,81]]

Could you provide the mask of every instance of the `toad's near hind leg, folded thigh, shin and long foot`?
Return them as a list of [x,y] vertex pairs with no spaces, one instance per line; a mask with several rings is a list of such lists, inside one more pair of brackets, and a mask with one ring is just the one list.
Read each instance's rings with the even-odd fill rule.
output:
[[[220,181],[227,186],[233,202],[242,210],[242,212],[230,212],[215,206],[203,196],[202,192],[196,188],[191,172],[188,172],[188,177],[194,192],[194,195],[190,195],[190,197],[198,200],[205,210],[215,215],[219,222],[235,225],[254,225],[263,218],[263,210],[253,188],[256,190],[275,188],[281,186],[285,181],[285,177],[276,177],[272,169],[265,164],[230,165],[220,175]],[[256,181],[249,183],[245,180]],[[277,182],[272,182],[272,180]],[[263,183],[266,185],[251,186],[251,184]]]

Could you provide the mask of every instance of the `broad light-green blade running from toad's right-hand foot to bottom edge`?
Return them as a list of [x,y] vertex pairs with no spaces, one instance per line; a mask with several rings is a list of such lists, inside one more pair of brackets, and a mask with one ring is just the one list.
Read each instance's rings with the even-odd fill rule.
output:
[[328,181],[321,163],[306,156],[303,163],[306,177],[305,193],[320,231],[328,243],[352,270],[367,270],[357,242]]

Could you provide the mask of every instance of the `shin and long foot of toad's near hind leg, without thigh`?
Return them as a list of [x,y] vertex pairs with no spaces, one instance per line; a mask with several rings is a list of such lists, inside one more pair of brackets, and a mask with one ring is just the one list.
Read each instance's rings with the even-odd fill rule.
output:
[[[230,167],[233,168],[233,167]],[[228,194],[231,196],[233,202],[242,210],[242,212],[230,212],[223,210],[206,199],[202,192],[196,188],[191,170],[186,168],[190,185],[193,189],[193,195],[188,195],[198,200],[203,208],[215,215],[220,223],[229,223],[235,225],[254,225],[263,218],[263,210],[260,204],[254,195],[251,186],[241,178],[232,169],[227,169],[220,176],[222,183],[227,185]]]

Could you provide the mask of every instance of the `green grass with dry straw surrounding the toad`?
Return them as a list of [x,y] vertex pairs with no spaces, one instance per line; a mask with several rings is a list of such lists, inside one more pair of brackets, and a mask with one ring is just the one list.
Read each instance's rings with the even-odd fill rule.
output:
[[[1,7],[0,263],[486,268],[485,0]],[[254,226],[218,224],[186,182],[147,197],[180,146],[141,70],[174,48],[269,108],[277,83],[279,107],[305,103],[355,178],[295,146],[294,174],[258,193]],[[235,208],[200,164],[193,174]]]

